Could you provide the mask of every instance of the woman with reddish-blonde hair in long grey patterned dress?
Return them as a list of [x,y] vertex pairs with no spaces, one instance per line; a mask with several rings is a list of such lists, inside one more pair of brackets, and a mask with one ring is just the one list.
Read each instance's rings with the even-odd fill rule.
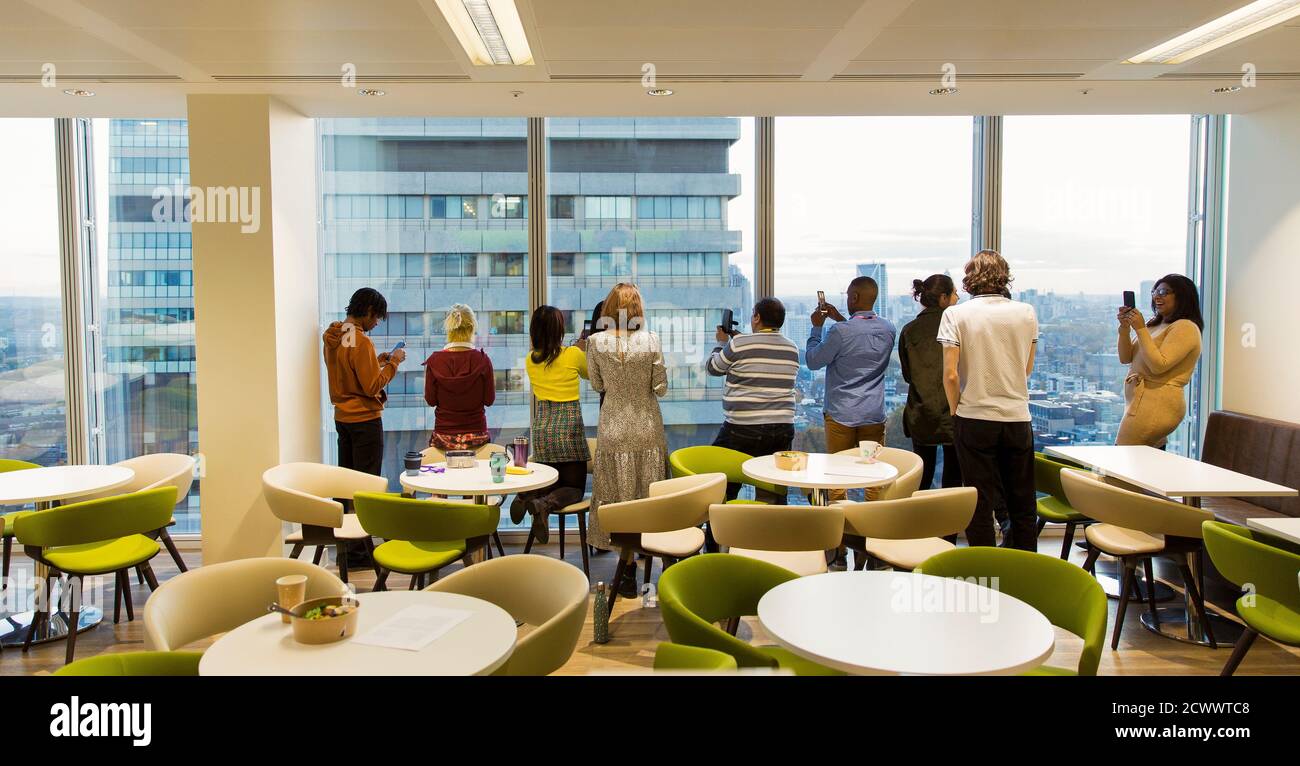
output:
[[[604,299],[604,332],[588,338],[592,389],[606,395],[593,458],[592,545],[610,550],[601,528],[601,503],[649,497],[667,477],[668,443],[659,397],[668,393],[659,336],[642,329],[645,308],[636,285],[620,282]],[[621,584],[620,584],[621,585]]]

